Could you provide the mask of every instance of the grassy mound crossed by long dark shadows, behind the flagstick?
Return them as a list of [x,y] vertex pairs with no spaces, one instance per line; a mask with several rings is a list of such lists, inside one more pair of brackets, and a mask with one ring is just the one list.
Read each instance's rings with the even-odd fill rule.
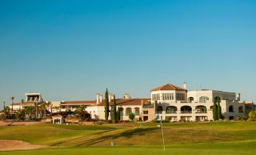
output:
[[[66,141],[58,146],[108,146],[115,140],[117,145],[162,144],[162,135],[156,123],[146,123],[135,128],[116,129],[100,135],[91,135]],[[220,141],[244,141],[256,139],[256,123],[166,123],[165,144],[190,144]]]

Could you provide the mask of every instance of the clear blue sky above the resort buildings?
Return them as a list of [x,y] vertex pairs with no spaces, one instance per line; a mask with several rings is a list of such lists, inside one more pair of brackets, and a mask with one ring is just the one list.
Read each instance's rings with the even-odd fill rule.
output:
[[149,97],[162,84],[256,101],[256,1],[0,2],[0,102],[96,93]]

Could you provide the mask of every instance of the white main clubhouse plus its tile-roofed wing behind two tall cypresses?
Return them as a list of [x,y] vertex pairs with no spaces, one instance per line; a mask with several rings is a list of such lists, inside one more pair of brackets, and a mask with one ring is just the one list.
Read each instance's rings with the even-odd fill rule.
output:
[[[221,113],[224,120],[234,120],[245,114],[245,104],[240,102],[239,93],[217,90],[187,91],[184,87],[165,84],[151,90],[150,99],[117,99],[117,107],[122,109],[121,120],[128,120],[132,112],[137,120],[205,121],[213,120],[213,102],[221,99]],[[86,111],[94,119],[104,119],[104,102],[89,105]],[[109,99],[109,116],[113,114],[113,101]]]

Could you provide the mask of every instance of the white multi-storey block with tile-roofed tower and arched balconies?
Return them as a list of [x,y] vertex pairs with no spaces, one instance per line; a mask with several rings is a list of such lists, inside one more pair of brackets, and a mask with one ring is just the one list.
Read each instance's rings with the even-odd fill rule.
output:
[[165,84],[151,90],[151,102],[156,102],[156,119],[163,120],[213,120],[213,102],[221,98],[221,113],[224,120],[234,120],[245,114],[245,105],[240,95],[215,90],[193,90],[187,92],[184,87]]

